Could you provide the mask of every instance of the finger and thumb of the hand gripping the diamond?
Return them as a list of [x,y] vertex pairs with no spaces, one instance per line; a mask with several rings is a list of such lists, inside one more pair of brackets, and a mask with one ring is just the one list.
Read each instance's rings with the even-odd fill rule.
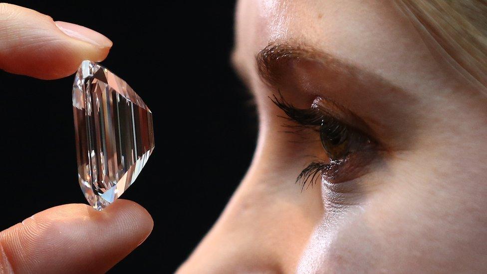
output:
[[[0,3],[0,69],[7,72],[65,77],[84,59],[103,60],[111,45],[88,28]],[[103,211],[83,204],[54,207],[0,232],[0,273],[106,272],[152,227],[149,213],[126,200]]]

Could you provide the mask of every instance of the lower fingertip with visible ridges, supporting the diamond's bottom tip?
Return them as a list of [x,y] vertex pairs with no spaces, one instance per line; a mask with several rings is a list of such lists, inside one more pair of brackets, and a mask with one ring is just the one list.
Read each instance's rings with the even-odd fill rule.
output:
[[147,210],[128,200],[102,211],[69,204],[1,232],[0,246],[11,268],[20,273],[105,272],[140,245],[152,228]]

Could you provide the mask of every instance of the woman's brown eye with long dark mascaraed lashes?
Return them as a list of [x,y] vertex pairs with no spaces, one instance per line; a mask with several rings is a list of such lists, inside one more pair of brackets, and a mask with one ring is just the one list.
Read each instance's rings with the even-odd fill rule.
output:
[[[332,102],[325,104],[322,98],[317,98],[307,109],[294,107],[286,102],[282,95],[279,98],[274,95],[271,100],[284,111],[288,120],[298,124],[297,127],[310,129],[313,134],[319,135],[321,146],[329,158],[311,162],[297,176],[296,182],[300,182],[303,189],[306,185],[316,183],[320,178],[325,178],[331,183],[339,183],[364,174],[364,167],[376,154],[377,142],[332,114],[346,113],[345,109]],[[329,105],[327,109],[324,109],[325,105]],[[336,116],[354,117],[350,113]],[[298,129],[296,133],[302,134],[303,131]]]

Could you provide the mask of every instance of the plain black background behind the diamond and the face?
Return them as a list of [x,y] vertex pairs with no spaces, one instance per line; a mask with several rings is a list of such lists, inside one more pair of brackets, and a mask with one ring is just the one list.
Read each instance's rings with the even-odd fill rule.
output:
[[[230,64],[233,1],[11,1],[95,29],[114,45],[102,65],[151,108],[156,148],[122,196],[154,219],[147,241],[113,271],[173,272],[211,228],[250,163],[251,97]],[[0,71],[0,230],[44,209],[86,203],[79,189],[73,77]]]

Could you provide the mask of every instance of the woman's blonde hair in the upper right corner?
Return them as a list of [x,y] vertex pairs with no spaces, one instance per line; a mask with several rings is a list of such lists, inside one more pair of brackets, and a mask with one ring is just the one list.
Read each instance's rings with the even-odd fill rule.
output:
[[457,69],[487,87],[487,0],[397,0]]

